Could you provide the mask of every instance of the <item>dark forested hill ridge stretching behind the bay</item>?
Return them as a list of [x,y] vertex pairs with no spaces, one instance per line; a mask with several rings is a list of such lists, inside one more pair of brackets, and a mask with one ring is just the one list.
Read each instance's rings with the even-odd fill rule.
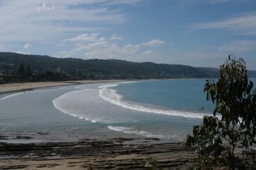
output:
[[[53,58],[0,52],[0,75],[13,75],[20,68],[29,68],[27,81],[58,79],[157,79],[181,77],[214,77],[216,72],[185,65],[134,63],[117,59]],[[20,71],[20,70],[19,70]],[[41,74],[42,75],[41,75]],[[24,73],[23,73],[24,74]],[[38,75],[36,79],[32,75]],[[18,74],[19,75],[19,74]],[[55,76],[56,75],[56,76]],[[32,77],[31,77],[32,76]],[[54,78],[55,76],[55,78]],[[10,78],[10,77],[9,77]],[[11,77],[12,78],[12,77]],[[19,76],[18,76],[19,78]],[[3,79],[3,78],[2,78]]]

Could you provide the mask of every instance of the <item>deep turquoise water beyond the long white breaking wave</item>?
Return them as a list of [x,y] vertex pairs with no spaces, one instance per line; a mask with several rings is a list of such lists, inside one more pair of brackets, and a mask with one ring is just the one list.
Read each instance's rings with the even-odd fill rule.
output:
[[[142,81],[116,86],[125,100],[152,104],[189,112],[208,112],[214,109],[212,102],[205,100],[205,79],[173,79],[166,81]],[[202,110],[204,107],[204,110]]]

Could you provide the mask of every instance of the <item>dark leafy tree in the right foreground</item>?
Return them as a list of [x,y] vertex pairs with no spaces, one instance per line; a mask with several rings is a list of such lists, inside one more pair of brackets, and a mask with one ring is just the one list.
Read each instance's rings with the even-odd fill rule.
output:
[[[245,65],[242,58],[228,56],[220,66],[218,82],[206,81],[206,99],[215,104],[213,116],[205,116],[202,125],[195,126],[193,136],[188,135],[187,139],[187,145],[196,146],[196,167],[200,169],[211,169],[211,165],[232,169],[256,166],[252,159],[252,145],[256,144],[256,91],[252,89],[253,82],[248,82]],[[245,159],[234,154],[237,144]]]

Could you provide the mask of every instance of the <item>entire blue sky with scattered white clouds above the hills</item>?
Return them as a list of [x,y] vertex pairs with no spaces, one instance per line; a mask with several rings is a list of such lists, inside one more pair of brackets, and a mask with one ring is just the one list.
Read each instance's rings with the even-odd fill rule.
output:
[[0,51],[256,70],[255,0],[0,0]]

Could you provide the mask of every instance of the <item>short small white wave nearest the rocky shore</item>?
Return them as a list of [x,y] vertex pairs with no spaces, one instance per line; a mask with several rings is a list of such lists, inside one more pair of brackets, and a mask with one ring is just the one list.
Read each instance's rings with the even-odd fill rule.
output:
[[143,130],[135,130],[134,128],[127,128],[127,127],[114,127],[114,126],[108,126],[110,130],[115,130],[118,132],[124,132],[126,134],[136,134],[136,135],[142,135],[145,137],[157,137],[161,139],[173,139],[177,138],[177,135],[157,135],[157,134],[152,134],[150,132],[146,132]]

